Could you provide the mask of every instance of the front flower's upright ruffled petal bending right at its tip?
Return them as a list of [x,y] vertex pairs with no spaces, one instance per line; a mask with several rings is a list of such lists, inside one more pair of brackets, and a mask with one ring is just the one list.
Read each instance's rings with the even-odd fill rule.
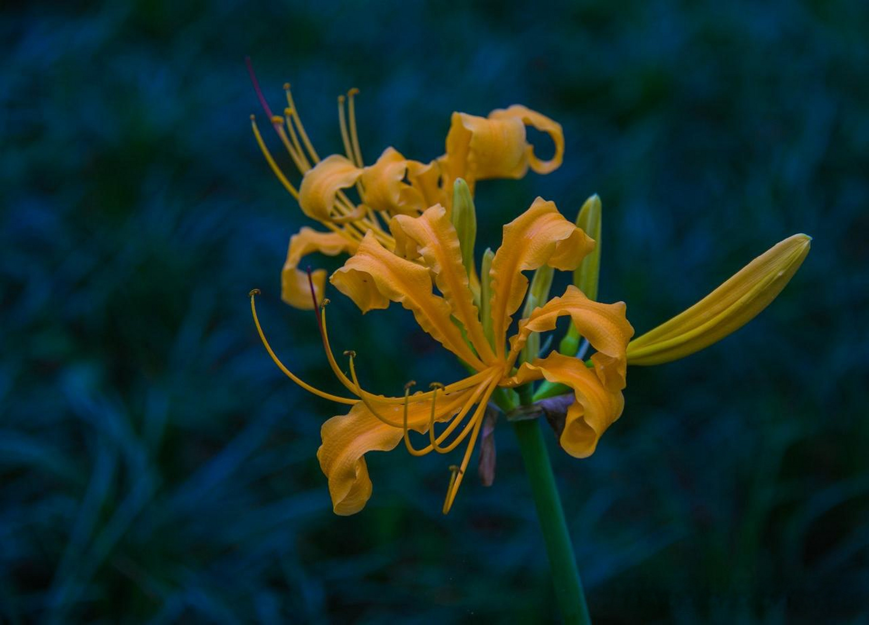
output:
[[504,226],[501,247],[495,252],[492,279],[492,329],[495,349],[504,354],[507,327],[528,287],[522,271],[544,264],[573,270],[594,249],[594,241],[568,222],[555,204],[538,197],[520,216]]

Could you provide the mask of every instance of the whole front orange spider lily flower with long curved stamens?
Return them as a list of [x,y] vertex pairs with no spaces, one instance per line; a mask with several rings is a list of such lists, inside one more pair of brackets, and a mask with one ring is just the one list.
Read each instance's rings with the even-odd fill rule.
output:
[[[482,272],[488,305],[478,309],[462,263],[461,246],[448,211],[437,204],[421,216],[399,215],[390,221],[395,252],[367,233],[354,256],[335,271],[330,282],[349,296],[362,312],[401,303],[420,327],[465,362],[473,373],[445,387],[435,385],[425,393],[403,397],[373,395],[362,389],[355,371],[355,353],[348,352],[350,377],[337,366],[328,343],[325,313],[318,321],[328,362],[352,397],[332,396],[291,374],[269,348],[284,372],[306,389],[335,402],[352,404],[346,415],[334,416],[322,426],[322,446],[317,452],[328,477],[336,514],[361,510],[371,495],[371,480],[364,455],[394,449],[404,442],[413,455],[432,451],[448,453],[466,442],[461,464],[452,470],[443,511],[447,513],[466,473],[480,434],[488,401],[499,387],[513,389],[546,378],[567,385],[575,401],[567,413],[561,446],[576,457],[594,452],[600,436],[619,418],[623,407],[627,342],[634,329],[625,317],[625,304],[593,302],[574,286],[534,308],[519,322],[507,341],[507,329],[528,289],[523,271],[548,266],[573,270],[594,249],[594,241],[568,222],[554,203],[541,198],[513,222],[504,226],[501,247],[489,256]],[[437,287],[441,295],[433,291]],[[253,298],[251,307],[253,308]],[[481,319],[481,309],[489,320]],[[255,315],[255,309],[254,309]],[[485,313],[484,313],[485,315]],[[523,362],[517,359],[534,332],[554,329],[560,316],[570,316],[596,352],[592,367],[558,353]],[[446,423],[440,432],[435,423]],[[428,434],[428,444],[416,449],[409,431]]]

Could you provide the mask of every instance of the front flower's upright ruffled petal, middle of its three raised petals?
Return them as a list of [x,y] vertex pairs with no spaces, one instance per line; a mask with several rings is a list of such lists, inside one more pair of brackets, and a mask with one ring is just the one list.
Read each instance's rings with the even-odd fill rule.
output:
[[[395,216],[389,228],[395,237],[396,249],[401,247],[405,253],[422,256],[434,274],[434,283],[441,289],[455,318],[465,327],[477,354],[483,362],[492,363],[494,352],[483,334],[468,272],[462,264],[459,238],[447,210],[437,204],[419,217]],[[410,245],[408,239],[415,245]],[[398,243],[400,240],[401,244]],[[412,247],[415,249],[411,252]]]

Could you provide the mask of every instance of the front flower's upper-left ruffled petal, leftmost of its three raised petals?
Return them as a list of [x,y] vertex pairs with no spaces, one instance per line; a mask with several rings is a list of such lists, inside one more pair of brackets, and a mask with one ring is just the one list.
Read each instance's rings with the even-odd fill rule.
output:
[[362,310],[385,309],[399,302],[414,313],[421,329],[478,371],[481,360],[468,347],[450,319],[450,307],[432,293],[428,269],[411,263],[377,243],[369,231],[354,256],[329,281]]

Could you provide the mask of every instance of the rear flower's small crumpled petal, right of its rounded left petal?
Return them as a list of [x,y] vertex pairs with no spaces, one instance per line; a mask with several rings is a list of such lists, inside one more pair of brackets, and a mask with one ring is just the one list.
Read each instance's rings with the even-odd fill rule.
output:
[[421,192],[404,182],[407,173],[408,160],[398,150],[383,150],[377,162],[362,172],[365,203],[393,215],[419,215],[427,207]]

